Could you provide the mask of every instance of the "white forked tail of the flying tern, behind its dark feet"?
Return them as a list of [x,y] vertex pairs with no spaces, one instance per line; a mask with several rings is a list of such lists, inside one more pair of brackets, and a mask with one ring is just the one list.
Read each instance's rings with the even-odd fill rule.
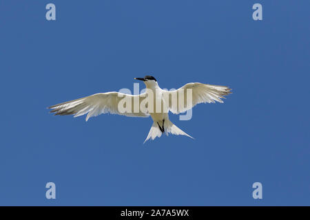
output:
[[[185,135],[187,137],[191,137],[194,139],[194,137],[188,135],[187,133],[179,129],[174,123],[170,122],[169,119],[165,120],[164,128],[165,128],[166,135],[168,135],[169,133],[172,133],[173,135]],[[159,128],[158,123],[153,122],[152,127],[149,130],[149,134],[147,135],[147,138],[145,139],[143,143],[149,140],[149,138],[152,138],[152,140],[154,140],[156,137],[161,137],[162,134],[163,132],[161,132],[161,129]]]

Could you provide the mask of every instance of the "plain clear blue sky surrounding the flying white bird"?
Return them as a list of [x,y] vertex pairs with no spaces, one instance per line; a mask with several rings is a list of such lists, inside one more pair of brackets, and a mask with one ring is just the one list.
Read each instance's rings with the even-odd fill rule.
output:
[[[46,21],[45,5],[56,5]],[[263,20],[252,19],[261,3]],[[309,1],[0,1],[0,205],[310,205]],[[151,118],[46,107],[133,89],[227,85],[195,137],[143,144]],[[141,84],[141,88],[144,85]],[[56,199],[45,184],[56,184]],[[262,183],[263,199],[252,198]]]

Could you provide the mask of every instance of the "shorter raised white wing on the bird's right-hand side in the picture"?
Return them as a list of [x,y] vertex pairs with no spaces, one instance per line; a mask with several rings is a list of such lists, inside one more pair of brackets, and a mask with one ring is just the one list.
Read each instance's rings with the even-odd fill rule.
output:
[[[189,90],[187,89],[192,90],[192,97],[189,99],[189,101],[192,100],[192,103],[187,103],[187,93],[189,93]],[[172,111],[172,113],[178,114],[192,109],[192,107],[199,103],[214,103],[215,101],[223,102],[221,98],[231,94],[231,89],[229,89],[229,87],[219,85],[187,83],[183,87],[180,87],[174,91],[164,91],[164,96],[165,93],[166,95],[169,95],[169,110]],[[184,100],[184,103],[179,103],[179,96],[181,100]]]

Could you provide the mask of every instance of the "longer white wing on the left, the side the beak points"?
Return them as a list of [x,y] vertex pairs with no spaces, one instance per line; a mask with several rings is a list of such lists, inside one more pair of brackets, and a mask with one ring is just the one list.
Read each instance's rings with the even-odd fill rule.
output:
[[[129,98],[128,100],[131,101],[132,105],[129,109],[130,111],[120,111],[118,108],[118,103],[123,98]],[[134,102],[138,100],[138,103],[141,103],[144,98],[144,94],[128,95],[121,94],[116,91],[111,91],[107,93],[94,94],[92,96],[79,98],[69,102],[55,104],[51,107],[48,107],[48,109],[52,109],[50,112],[55,113],[55,115],[74,115],[74,117],[88,113],[86,121],[90,117],[97,116],[102,113],[112,113],[130,117],[149,117],[148,113],[142,112],[140,109],[138,109],[138,112],[134,111]]]

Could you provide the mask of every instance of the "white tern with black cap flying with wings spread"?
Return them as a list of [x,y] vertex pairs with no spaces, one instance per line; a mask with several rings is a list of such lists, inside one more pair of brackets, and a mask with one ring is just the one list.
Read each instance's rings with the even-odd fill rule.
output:
[[[179,129],[175,124],[170,122],[168,115],[169,111],[178,114],[192,109],[192,107],[199,103],[214,103],[215,101],[223,102],[221,98],[231,94],[231,89],[225,86],[208,85],[203,83],[187,83],[179,89],[174,91],[167,91],[161,89],[158,86],[157,80],[153,76],[145,76],[144,78],[134,79],[142,80],[145,83],[147,91],[153,92],[154,96],[149,96],[149,92],[139,95],[129,95],[116,91],[110,91],[106,93],[94,94],[92,96],[87,96],[68,102],[63,102],[60,104],[55,104],[51,107],[48,107],[48,109],[52,109],[50,112],[55,113],[55,115],[74,115],[74,117],[85,115],[87,113],[86,121],[90,117],[100,115],[102,113],[112,113],[130,117],[145,118],[151,115],[153,124],[149,134],[147,135],[147,138],[145,139],[146,142],[149,140],[149,138],[154,140],[156,137],[161,137],[163,133],[166,133],[166,135],[168,135],[168,133],[172,133],[174,135],[186,135],[187,137],[191,137]],[[187,93],[189,91],[192,93],[192,96],[190,96],[190,100],[187,100],[185,97],[187,97]],[[180,103],[182,102],[180,101],[180,96],[182,94],[184,94],[183,104]],[[143,104],[143,100],[145,102],[145,98],[147,97],[152,98],[152,100],[147,102],[145,107],[150,107],[153,104],[154,111],[149,111],[149,109],[145,111],[143,108],[134,109],[135,101],[138,102],[138,107],[140,107],[141,104]],[[122,106],[121,100],[124,98],[130,100],[130,102],[127,102],[129,111],[121,111],[120,109],[120,106]],[[155,110],[156,105],[161,107],[161,111]],[[167,107],[167,111],[162,108],[164,106]]]

